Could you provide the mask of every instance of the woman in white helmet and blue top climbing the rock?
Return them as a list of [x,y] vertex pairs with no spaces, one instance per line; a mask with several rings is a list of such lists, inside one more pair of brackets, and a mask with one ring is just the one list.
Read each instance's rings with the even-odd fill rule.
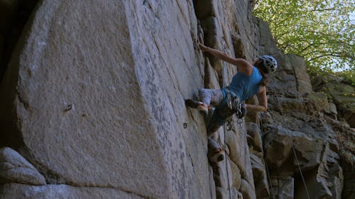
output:
[[[235,65],[238,70],[238,73],[231,79],[229,86],[223,89],[200,89],[200,101],[192,99],[185,101],[187,106],[197,108],[204,116],[208,115],[211,106],[215,107],[212,118],[207,122],[207,136],[217,131],[234,113],[239,118],[243,117],[246,113],[245,108],[253,111],[267,110],[267,74],[275,72],[278,67],[275,58],[270,55],[263,55],[251,64],[245,59],[230,57],[224,52],[211,47],[200,44],[200,48],[203,52],[209,52],[215,57]],[[258,96],[259,105],[241,105],[243,101],[254,95]]]

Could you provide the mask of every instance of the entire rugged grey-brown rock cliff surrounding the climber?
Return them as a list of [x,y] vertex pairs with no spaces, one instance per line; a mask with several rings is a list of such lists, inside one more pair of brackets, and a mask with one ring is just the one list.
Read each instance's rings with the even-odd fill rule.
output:
[[[1,168],[27,170],[1,173],[0,198],[318,199],[340,198],[343,185],[354,195],[339,163],[342,129],[324,118],[337,109],[252,7],[40,1],[1,80],[0,147],[27,159],[11,151],[21,164],[4,158]],[[207,159],[202,115],[184,101],[222,88],[236,67],[204,56],[198,42],[250,62],[271,54],[280,66],[268,113],[212,136],[226,151],[218,163]]]

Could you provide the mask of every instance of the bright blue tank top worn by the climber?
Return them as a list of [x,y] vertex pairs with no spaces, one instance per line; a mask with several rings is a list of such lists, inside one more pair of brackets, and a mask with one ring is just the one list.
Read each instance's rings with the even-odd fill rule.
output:
[[253,73],[251,76],[241,72],[235,74],[231,79],[231,84],[226,86],[226,89],[234,92],[241,102],[246,101],[258,93],[261,79],[263,79],[263,76],[261,76],[259,70],[253,66]]

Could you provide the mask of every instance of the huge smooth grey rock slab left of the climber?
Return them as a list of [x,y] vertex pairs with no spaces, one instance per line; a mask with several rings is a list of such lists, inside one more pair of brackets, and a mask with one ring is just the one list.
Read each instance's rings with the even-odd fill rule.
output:
[[180,108],[203,82],[194,16],[187,2],[42,1],[1,84],[1,132],[48,183],[209,198],[203,125],[184,129]]

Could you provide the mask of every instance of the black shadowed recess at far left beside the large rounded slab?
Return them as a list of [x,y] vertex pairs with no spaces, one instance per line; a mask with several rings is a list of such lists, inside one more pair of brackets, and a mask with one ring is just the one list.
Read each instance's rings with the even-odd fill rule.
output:
[[[16,93],[17,85],[17,64],[12,64],[12,68],[8,69],[11,57],[15,52],[18,40],[23,34],[25,25],[29,20],[38,0],[16,0],[5,1],[0,0],[0,84],[1,84],[1,111],[3,111],[1,120],[5,121],[0,134],[0,147],[12,147],[19,149],[22,147],[23,139],[18,127],[21,126],[22,120],[16,116],[16,101],[18,104],[28,108],[26,101]],[[9,70],[6,79],[5,71]],[[17,96],[17,97],[16,97]]]

